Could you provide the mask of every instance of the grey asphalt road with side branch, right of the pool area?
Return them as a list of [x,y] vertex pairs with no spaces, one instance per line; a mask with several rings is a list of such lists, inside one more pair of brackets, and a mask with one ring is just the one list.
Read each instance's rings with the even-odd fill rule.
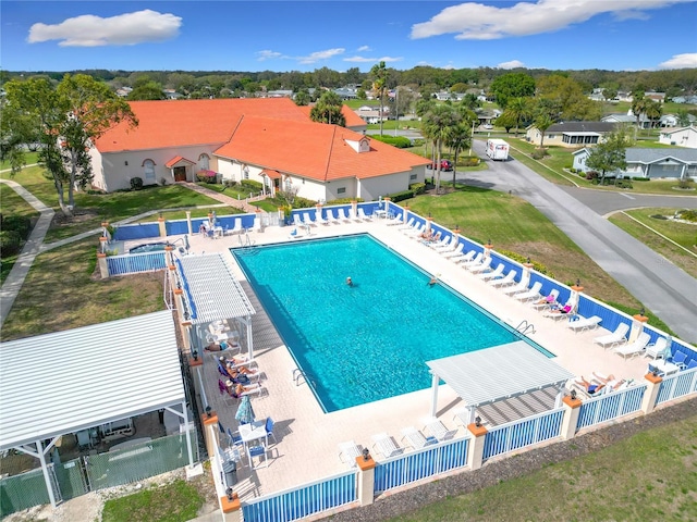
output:
[[[475,141],[474,150],[486,158],[482,141]],[[515,159],[487,161],[488,170],[461,173],[457,178],[468,185],[511,191],[537,207],[681,338],[697,343],[697,279],[603,217],[638,207],[696,209],[697,197],[560,187]]]

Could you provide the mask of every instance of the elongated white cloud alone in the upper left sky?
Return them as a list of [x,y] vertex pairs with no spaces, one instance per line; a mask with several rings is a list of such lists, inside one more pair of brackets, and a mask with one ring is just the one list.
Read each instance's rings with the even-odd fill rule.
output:
[[60,47],[134,46],[172,39],[181,26],[180,16],[149,9],[108,18],[85,14],[54,25],[34,24],[27,40],[59,40]]

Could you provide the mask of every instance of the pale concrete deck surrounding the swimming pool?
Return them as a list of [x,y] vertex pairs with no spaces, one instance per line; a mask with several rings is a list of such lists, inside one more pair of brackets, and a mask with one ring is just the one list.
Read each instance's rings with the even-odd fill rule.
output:
[[[249,232],[248,237],[255,245],[281,241],[302,241],[306,232],[298,228],[298,238],[291,238],[293,226],[268,227],[262,232]],[[388,247],[407,258],[431,274],[460,291],[481,308],[516,327],[522,321],[535,325],[529,338],[557,356],[555,361],[575,375],[589,378],[592,371],[614,374],[619,378],[641,380],[647,369],[647,359],[643,357],[625,360],[592,343],[592,338],[607,333],[603,328],[575,334],[565,326],[565,320],[543,318],[541,312],[505,296],[500,290],[482,282],[462,266],[447,260],[431,248],[401,233],[399,226],[389,226],[384,220],[341,225],[313,226],[309,238],[331,237],[368,232]],[[242,236],[244,237],[244,236]],[[237,235],[210,239],[194,234],[189,236],[191,254],[201,252],[227,252],[240,246]],[[494,246],[496,250],[496,246]],[[256,417],[271,417],[276,421],[274,434],[278,444],[270,440],[268,467],[250,470],[246,458],[237,468],[239,484],[235,492],[243,500],[277,493],[301,484],[319,481],[348,469],[339,458],[339,443],[355,440],[359,446],[371,449],[380,460],[382,457],[372,451],[371,435],[386,432],[395,442],[403,445],[401,430],[407,426],[424,427],[424,419],[429,417],[431,390],[425,389],[393,397],[345,410],[323,413],[315,396],[305,384],[296,386],[293,370],[296,368],[291,355],[276,332],[269,318],[240,268],[230,254],[231,265],[242,286],[254,304],[257,314],[253,320],[255,358],[266,373],[265,385],[268,396],[253,398]],[[441,318],[451,321],[451,318]],[[438,320],[436,318],[435,320]],[[235,430],[234,413],[236,406],[230,399],[223,400],[218,391],[218,372],[216,356],[206,353],[204,374],[206,395],[221,423]],[[360,369],[356,369],[360,372]],[[366,386],[369,386],[366,383]],[[448,386],[441,385],[438,394],[438,418],[449,428],[457,427],[456,436],[465,431],[454,413],[464,407],[463,401]],[[485,419],[486,421],[486,419]],[[255,462],[258,459],[255,458]]]

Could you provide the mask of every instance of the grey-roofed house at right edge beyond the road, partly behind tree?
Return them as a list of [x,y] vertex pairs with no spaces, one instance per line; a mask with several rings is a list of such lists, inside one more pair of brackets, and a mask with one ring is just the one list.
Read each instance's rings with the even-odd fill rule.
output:
[[[592,149],[583,148],[573,152],[573,166],[577,171],[588,172],[586,162]],[[697,179],[697,149],[647,149],[632,147],[626,149],[627,167],[612,173],[617,177],[684,178]]]

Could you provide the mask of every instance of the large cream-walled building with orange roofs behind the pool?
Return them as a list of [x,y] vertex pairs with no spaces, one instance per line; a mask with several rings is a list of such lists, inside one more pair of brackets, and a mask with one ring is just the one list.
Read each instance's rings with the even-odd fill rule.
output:
[[424,182],[429,163],[351,128],[314,123],[307,107],[288,98],[136,101],[131,108],[139,125],[117,125],[90,149],[93,184],[101,190],[127,189],[133,177],[145,185],[192,182],[212,170],[222,179],[258,181],[271,194],[296,188],[319,201],[374,200]]

